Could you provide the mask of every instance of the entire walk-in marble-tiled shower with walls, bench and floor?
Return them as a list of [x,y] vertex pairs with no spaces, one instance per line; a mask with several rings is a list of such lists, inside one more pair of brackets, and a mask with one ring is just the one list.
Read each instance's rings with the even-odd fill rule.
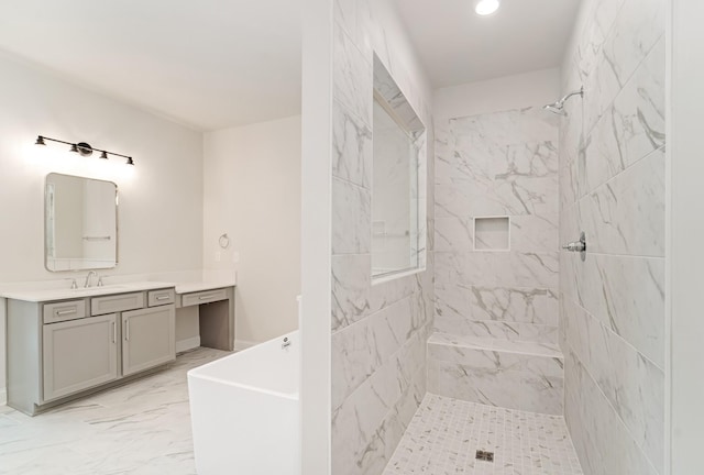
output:
[[[334,8],[332,473],[662,474],[664,0],[582,2],[559,96],[584,97],[564,117],[432,117],[387,7]],[[435,157],[426,272],[383,285],[373,52]],[[561,250],[581,232],[585,261]]]

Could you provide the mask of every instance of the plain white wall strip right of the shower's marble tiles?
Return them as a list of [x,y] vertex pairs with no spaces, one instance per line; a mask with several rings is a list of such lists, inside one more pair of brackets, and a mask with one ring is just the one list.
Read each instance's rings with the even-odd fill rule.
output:
[[670,0],[668,24],[668,317],[671,357],[668,358],[667,474],[702,473],[704,445],[704,371],[702,340],[702,84],[704,82],[704,3]]

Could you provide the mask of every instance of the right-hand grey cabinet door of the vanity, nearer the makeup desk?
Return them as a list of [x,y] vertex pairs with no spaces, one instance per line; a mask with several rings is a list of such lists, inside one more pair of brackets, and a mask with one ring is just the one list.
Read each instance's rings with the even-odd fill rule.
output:
[[122,313],[122,375],[176,358],[174,305]]

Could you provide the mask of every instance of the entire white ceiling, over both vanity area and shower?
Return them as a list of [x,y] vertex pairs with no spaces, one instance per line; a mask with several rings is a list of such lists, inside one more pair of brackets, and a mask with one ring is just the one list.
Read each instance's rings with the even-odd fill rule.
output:
[[[580,0],[393,0],[436,88],[560,64]],[[197,130],[300,113],[301,0],[0,0],[0,51]]]

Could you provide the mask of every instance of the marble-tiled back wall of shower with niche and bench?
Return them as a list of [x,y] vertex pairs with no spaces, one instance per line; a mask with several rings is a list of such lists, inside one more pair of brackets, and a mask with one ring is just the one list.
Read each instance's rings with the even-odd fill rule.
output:
[[[529,108],[436,123],[432,394],[562,415],[558,128],[549,119]],[[503,219],[487,231],[506,236],[497,248],[477,246],[485,219]]]

